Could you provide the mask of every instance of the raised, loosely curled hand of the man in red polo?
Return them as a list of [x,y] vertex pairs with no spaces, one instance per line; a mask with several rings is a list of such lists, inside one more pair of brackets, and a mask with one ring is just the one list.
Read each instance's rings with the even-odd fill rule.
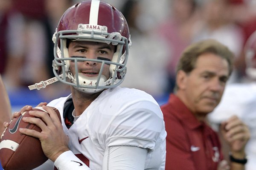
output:
[[221,133],[230,146],[233,155],[244,158],[244,147],[250,139],[250,132],[237,116],[232,116],[227,121],[221,123]]

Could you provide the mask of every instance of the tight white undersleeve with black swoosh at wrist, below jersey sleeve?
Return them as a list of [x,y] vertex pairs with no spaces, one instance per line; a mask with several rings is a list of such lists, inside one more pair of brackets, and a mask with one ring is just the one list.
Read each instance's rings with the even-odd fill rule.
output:
[[[139,147],[108,147],[103,159],[102,170],[144,170],[147,150]],[[122,161],[120,161],[122,160]],[[54,162],[58,170],[91,170],[73,152],[62,153]]]

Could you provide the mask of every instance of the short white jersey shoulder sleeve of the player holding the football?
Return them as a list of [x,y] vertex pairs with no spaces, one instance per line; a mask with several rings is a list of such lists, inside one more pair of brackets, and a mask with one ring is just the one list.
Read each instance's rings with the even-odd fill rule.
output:
[[163,114],[158,105],[150,101],[136,102],[113,117],[105,133],[105,144],[153,150],[163,127]]

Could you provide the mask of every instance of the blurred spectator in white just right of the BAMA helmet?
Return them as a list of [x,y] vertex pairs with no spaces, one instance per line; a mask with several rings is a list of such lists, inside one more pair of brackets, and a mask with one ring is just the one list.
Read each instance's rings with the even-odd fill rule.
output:
[[165,94],[167,83],[167,71],[164,68],[168,63],[169,46],[158,36],[156,26],[152,25],[154,22],[150,21],[153,20],[151,16],[145,16],[143,2],[145,0],[127,0],[121,10],[133,39],[127,62],[128,71],[121,86],[137,88],[154,97],[161,97]]

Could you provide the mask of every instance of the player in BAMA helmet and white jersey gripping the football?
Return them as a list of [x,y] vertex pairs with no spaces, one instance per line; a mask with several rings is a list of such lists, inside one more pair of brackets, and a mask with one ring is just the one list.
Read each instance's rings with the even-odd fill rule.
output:
[[[121,12],[99,0],[77,3],[64,12],[52,39],[55,77],[29,88],[61,81],[71,94],[40,104],[49,116],[31,111],[41,119],[23,119],[41,133],[20,133],[40,139],[52,169],[54,163],[58,170],[164,170],[166,131],[159,105],[143,91],[119,87],[131,46]],[[61,113],[62,125],[48,106]]]

